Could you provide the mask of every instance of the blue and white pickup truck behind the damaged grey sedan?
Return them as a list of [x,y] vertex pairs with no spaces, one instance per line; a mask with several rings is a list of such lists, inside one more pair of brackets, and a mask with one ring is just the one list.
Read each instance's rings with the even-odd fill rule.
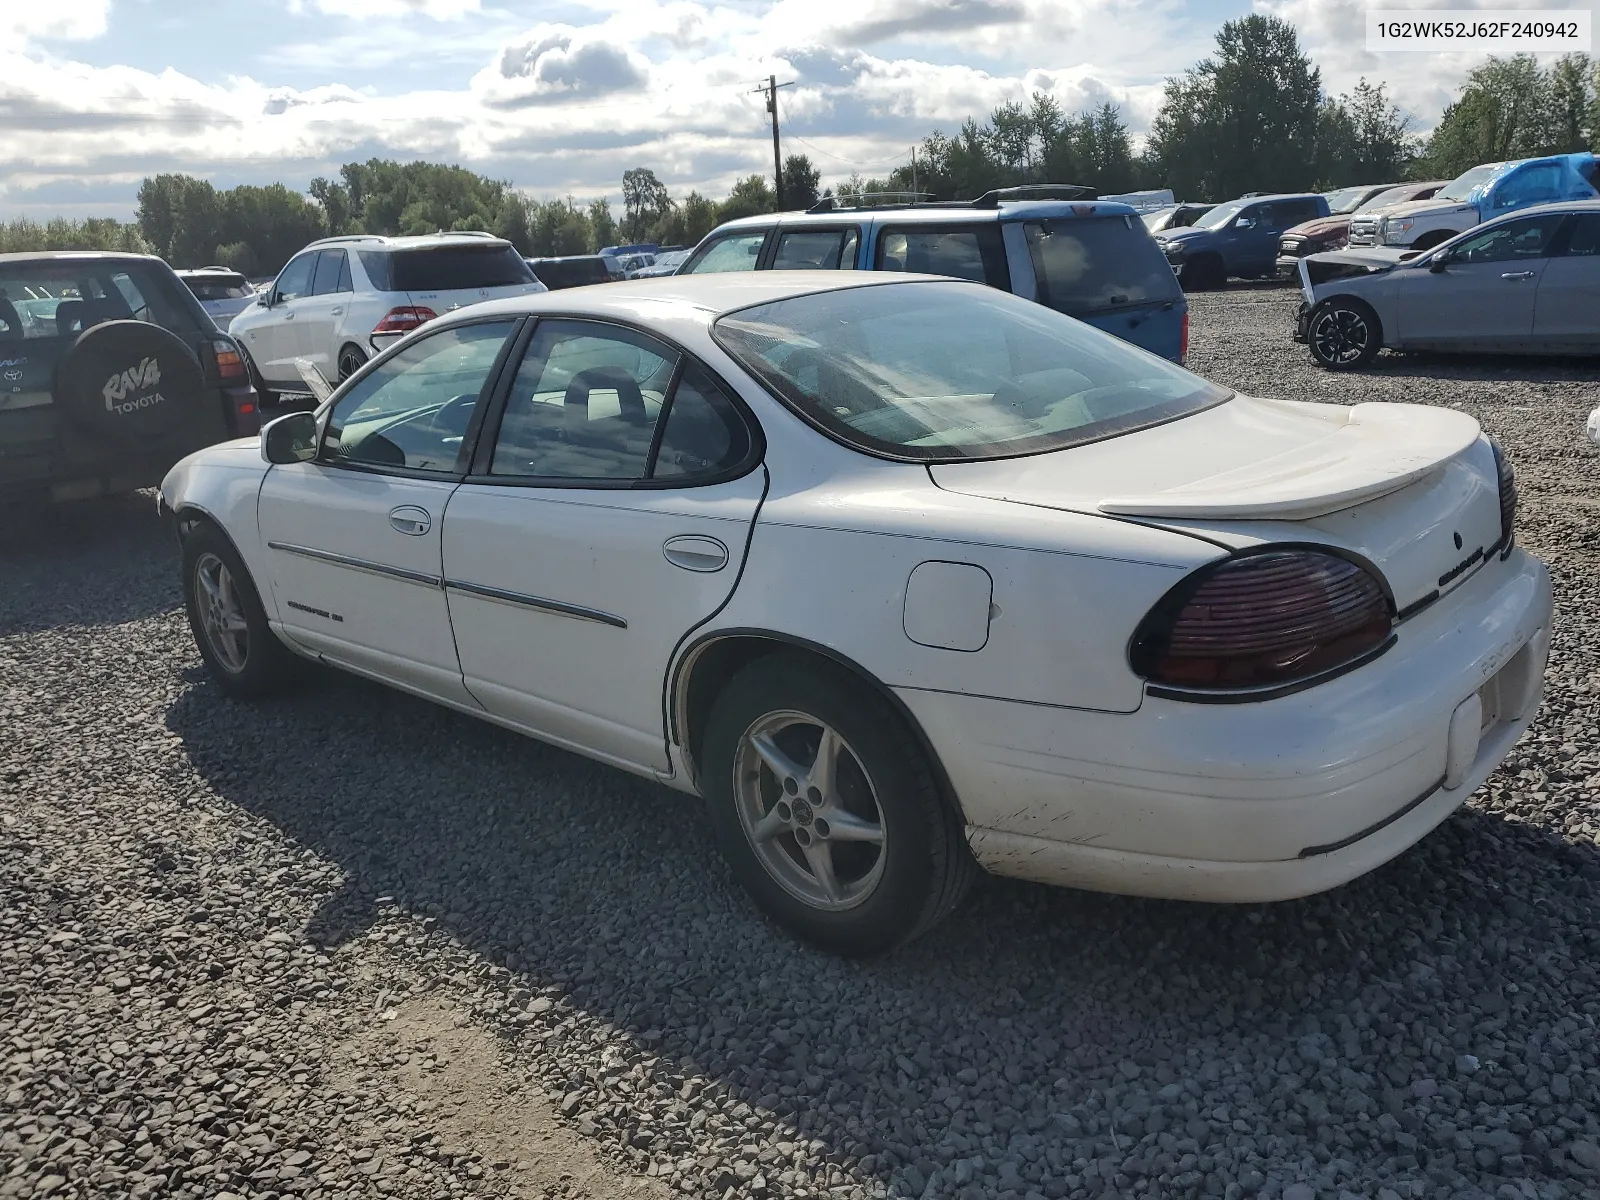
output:
[[1587,150],[1483,163],[1451,179],[1432,200],[1357,213],[1350,221],[1350,245],[1432,250],[1518,208],[1587,200],[1597,195],[1595,165],[1595,155]]

